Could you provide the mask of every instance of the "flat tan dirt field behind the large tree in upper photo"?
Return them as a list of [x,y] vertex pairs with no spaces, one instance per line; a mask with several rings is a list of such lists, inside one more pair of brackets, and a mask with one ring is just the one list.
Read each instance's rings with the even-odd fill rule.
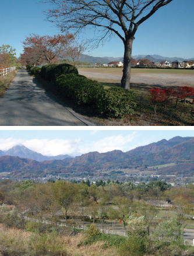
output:
[[[122,68],[79,68],[79,73],[99,82],[119,83]],[[194,70],[132,68],[131,82],[155,86],[194,87]]]

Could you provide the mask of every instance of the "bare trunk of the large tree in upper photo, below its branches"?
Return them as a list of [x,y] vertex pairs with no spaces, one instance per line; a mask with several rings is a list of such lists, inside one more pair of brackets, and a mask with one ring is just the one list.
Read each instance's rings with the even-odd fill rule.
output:
[[135,37],[126,38],[125,40],[125,52],[124,52],[124,69],[121,79],[121,87],[130,89],[130,66],[132,61],[132,45]]

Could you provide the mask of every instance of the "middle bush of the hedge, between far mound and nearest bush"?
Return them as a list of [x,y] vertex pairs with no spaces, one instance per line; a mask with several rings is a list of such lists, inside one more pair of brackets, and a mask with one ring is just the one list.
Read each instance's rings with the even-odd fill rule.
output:
[[100,113],[104,87],[97,81],[82,75],[69,74],[59,76],[56,86],[63,96],[73,100],[77,106],[89,106],[96,113]]

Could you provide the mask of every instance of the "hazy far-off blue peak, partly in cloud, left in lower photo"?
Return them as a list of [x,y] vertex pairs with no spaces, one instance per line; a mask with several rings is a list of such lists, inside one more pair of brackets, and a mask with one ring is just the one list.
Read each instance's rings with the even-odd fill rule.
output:
[[44,156],[40,153],[37,153],[33,150],[26,148],[23,145],[16,145],[9,150],[2,151],[0,150],[0,156],[19,156],[23,158],[28,158],[36,161],[45,161],[45,160],[62,160],[67,157],[71,157],[69,155],[58,155],[58,156]]

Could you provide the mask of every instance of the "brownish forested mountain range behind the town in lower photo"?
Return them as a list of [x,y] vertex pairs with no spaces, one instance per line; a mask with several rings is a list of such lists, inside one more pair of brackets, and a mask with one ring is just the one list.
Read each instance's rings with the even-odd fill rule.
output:
[[194,137],[176,136],[168,141],[163,139],[128,152],[121,150],[106,153],[89,152],[81,156],[67,157],[62,160],[44,160],[43,162],[4,155],[0,157],[0,173],[9,173],[10,178],[43,177],[45,174],[58,173],[76,177],[83,173],[95,175],[99,171],[106,170],[134,169],[138,171],[145,166],[164,164],[167,166],[158,169],[158,174],[184,173],[186,176],[194,176]]

